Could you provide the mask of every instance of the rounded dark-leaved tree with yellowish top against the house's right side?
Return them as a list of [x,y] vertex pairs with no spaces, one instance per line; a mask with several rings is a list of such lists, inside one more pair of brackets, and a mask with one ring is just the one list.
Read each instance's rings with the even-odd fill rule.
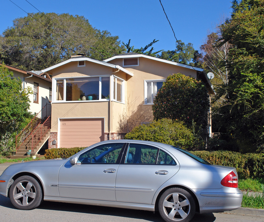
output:
[[207,126],[209,99],[201,81],[181,73],[168,76],[156,97],[152,110],[154,119],[180,120],[191,127]]

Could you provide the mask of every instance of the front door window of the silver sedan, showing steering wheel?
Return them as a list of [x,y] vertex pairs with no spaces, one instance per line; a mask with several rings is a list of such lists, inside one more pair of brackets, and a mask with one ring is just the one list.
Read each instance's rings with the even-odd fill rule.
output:
[[116,163],[124,143],[108,143],[81,154],[77,163]]

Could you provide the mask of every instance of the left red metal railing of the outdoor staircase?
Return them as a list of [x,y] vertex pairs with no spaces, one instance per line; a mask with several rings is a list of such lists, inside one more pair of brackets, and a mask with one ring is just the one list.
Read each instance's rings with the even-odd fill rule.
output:
[[24,141],[33,134],[36,127],[51,115],[51,104],[46,104],[39,113],[30,121],[28,125],[16,136],[16,149],[18,149]]

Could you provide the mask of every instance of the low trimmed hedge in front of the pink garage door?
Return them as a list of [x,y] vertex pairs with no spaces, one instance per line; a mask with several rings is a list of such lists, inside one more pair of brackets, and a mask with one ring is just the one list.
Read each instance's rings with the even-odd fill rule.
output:
[[45,158],[46,159],[54,159],[54,158],[69,158],[72,155],[78,153],[83,150],[85,147],[74,147],[74,148],[53,148],[49,150],[45,150]]

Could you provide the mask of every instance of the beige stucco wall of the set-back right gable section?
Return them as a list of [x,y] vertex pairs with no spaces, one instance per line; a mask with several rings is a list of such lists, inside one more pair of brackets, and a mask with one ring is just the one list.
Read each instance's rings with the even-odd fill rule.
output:
[[[110,61],[113,64],[122,66],[123,59],[115,59]],[[134,74],[133,77],[127,79],[126,87],[126,106],[122,115],[127,118],[128,125],[135,125],[136,122],[153,121],[152,105],[144,104],[144,80],[166,79],[167,76],[174,73],[183,73],[186,76],[196,78],[196,71],[179,67],[163,62],[139,58],[139,66],[123,67]],[[129,104],[129,105],[128,105]],[[128,117],[130,116],[130,117]],[[116,125],[117,127],[117,125]],[[126,129],[123,130],[126,132]],[[118,132],[118,131],[117,131]]]

